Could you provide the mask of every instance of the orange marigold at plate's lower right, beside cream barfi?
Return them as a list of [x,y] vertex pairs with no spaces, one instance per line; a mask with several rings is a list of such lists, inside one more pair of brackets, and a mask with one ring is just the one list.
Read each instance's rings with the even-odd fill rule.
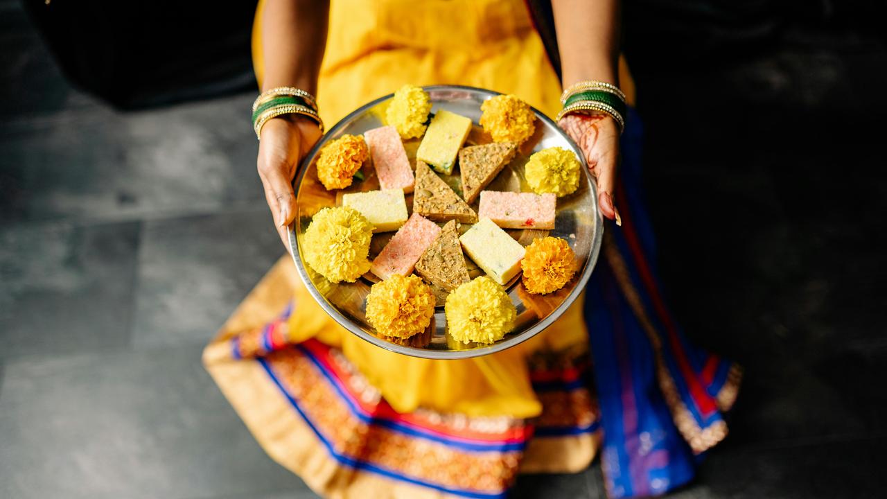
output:
[[534,295],[564,287],[577,271],[576,253],[558,237],[533,240],[521,261],[523,286]]

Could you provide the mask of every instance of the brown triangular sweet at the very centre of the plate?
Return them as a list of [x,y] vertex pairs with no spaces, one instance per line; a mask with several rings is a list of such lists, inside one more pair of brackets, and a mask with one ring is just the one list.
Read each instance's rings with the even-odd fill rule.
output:
[[477,222],[477,213],[462,201],[428,165],[416,161],[416,186],[412,193],[412,211],[440,222],[459,220],[467,224]]

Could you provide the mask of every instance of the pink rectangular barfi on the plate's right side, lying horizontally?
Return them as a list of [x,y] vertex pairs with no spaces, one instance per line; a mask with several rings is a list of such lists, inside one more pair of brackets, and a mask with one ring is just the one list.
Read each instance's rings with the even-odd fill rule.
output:
[[477,210],[480,218],[490,218],[504,229],[554,228],[554,194],[502,193],[482,191],[481,205]]

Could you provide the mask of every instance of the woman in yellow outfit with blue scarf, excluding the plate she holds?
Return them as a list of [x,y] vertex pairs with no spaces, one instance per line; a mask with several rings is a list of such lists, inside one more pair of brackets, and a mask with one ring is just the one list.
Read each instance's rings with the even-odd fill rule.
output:
[[689,345],[664,305],[640,201],[640,123],[595,98],[632,101],[618,25],[616,0],[260,1],[262,90],[304,104],[256,130],[285,244],[292,180],[318,125],[405,83],[486,88],[558,115],[612,220],[585,304],[522,345],[467,360],[357,338],[282,257],[204,361],[263,448],[318,494],[500,497],[518,472],[583,471],[600,453],[608,495],[657,495],[692,479],[695,456],[726,436],[740,369]]

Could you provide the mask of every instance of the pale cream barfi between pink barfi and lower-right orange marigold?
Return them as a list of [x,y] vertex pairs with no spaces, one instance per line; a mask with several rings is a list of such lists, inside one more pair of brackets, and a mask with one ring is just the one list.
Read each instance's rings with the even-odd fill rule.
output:
[[462,249],[487,273],[493,281],[502,284],[521,272],[524,249],[520,242],[499,228],[490,218],[472,226],[459,238]]

